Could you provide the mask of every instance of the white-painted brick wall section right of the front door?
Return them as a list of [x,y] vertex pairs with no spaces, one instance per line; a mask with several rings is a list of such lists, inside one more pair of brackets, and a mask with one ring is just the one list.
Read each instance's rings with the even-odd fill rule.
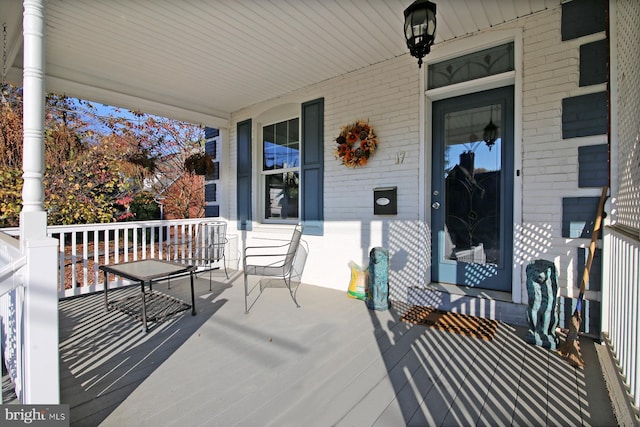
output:
[[[560,9],[527,19],[523,41],[522,194],[523,233],[519,261],[543,258],[558,268],[561,294],[577,296],[578,247],[586,239],[562,237],[562,198],[599,196],[578,188],[578,147],[603,144],[606,135],[562,139],[562,100],[604,90],[579,87],[580,45],[604,34],[561,41]],[[523,297],[526,270],[522,270]],[[526,298],[524,298],[526,301]]]

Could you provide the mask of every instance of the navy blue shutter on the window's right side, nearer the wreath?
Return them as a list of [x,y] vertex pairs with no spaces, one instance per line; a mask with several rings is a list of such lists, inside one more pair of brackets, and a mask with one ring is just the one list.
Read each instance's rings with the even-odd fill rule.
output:
[[304,234],[324,232],[324,98],[302,104],[302,224]]

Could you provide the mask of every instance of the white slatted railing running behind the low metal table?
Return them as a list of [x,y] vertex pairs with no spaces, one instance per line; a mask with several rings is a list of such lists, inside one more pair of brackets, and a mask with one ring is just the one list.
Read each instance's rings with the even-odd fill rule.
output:
[[[214,220],[215,218],[210,218]],[[190,237],[198,223],[206,218],[131,221],[106,224],[54,225],[47,227],[47,235],[58,240],[58,296],[67,298],[85,295],[103,289],[100,265],[158,258],[180,261],[194,259],[195,250]],[[18,235],[17,228],[4,229]],[[227,265],[237,262],[236,242],[230,238]],[[204,267],[204,263],[202,266]],[[116,278],[110,287],[129,284]]]

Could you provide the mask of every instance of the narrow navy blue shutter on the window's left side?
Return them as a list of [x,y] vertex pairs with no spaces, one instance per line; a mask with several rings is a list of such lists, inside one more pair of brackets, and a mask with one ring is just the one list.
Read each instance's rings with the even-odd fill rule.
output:
[[251,230],[251,119],[238,123],[238,230]]

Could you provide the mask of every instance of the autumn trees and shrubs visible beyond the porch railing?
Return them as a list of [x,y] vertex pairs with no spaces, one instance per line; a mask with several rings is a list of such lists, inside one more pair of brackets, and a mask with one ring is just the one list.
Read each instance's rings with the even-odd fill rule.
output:
[[[21,91],[12,88],[10,95],[16,100],[12,105],[19,105]],[[171,186],[183,182],[181,176],[190,175],[184,170],[184,158],[201,148],[202,128],[143,113],[125,118],[97,111],[87,101],[47,96],[43,186],[49,224],[159,218],[154,196],[166,197]],[[0,227],[19,225],[22,134],[22,109],[3,104]],[[149,182],[153,191],[142,191]],[[185,205],[203,204],[202,189],[176,194]]]

